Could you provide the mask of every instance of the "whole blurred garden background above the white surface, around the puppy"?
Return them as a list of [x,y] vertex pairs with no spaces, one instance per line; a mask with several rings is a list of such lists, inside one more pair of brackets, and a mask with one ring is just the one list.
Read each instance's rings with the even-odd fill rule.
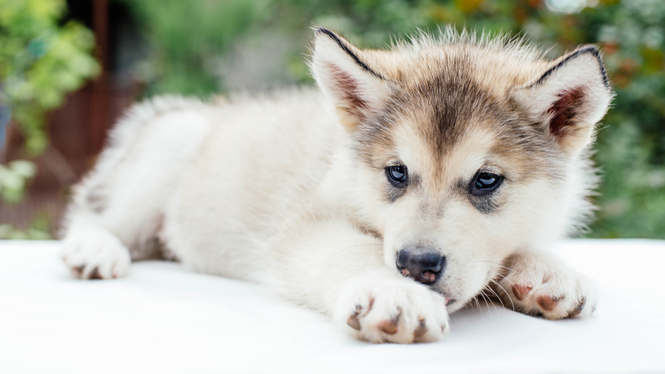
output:
[[665,238],[664,0],[0,0],[0,239],[44,239],[136,100],[313,84],[319,24],[364,47],[439,25],[602,48],[617,98],[593,238]]

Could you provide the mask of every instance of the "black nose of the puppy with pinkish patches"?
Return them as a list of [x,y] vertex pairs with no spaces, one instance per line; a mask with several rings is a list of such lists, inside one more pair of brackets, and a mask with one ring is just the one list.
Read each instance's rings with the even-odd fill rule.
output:
[[406,247],[397,256],[397,269],[425,285],[431,285],[443,273],[445,257],[434,249]]

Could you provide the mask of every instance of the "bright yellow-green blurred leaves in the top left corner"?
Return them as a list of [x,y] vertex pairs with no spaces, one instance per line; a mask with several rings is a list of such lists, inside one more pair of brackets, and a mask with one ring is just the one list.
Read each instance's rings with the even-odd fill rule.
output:
[[26,150],[46,149],[46,112],[98,72],[94,37],[76,22],[60,25],[64,0],[0,1],[0,102],[25,136]]

